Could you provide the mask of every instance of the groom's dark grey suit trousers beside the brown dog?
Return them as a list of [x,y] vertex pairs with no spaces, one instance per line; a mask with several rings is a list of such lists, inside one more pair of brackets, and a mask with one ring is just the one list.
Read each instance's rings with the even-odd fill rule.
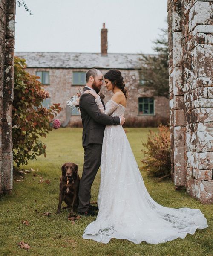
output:
[[92,183],[101,164],[102,144],[89,144],[83,148],[84,164],[78,192],[78,212],[86,212],[89,209]]

